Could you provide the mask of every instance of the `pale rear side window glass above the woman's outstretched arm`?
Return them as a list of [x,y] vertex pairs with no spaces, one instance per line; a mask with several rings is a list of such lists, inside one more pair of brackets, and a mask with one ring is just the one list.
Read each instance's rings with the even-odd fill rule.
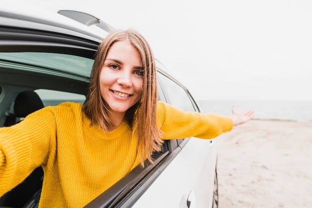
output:
[[195,111],[187,92],[168,77],[158,73],[161,88],[168,104],[185,111]]

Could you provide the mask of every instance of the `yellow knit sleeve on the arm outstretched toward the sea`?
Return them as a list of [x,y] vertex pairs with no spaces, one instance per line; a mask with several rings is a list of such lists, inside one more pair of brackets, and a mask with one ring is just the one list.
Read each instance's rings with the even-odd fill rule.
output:
[[211,139],[233,128],[233,121],[229,116],[185,112],[163,102],[158,102],[157,116],[163,139]]

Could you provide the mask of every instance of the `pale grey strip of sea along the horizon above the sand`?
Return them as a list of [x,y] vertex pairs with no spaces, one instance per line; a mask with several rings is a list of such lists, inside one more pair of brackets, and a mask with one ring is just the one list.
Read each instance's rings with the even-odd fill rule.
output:
[[254,119],[312,121],[311,101],[217,101],[199,100],[199,108],[205,113],[232,114],[232,105],[239,111],[255,110]]

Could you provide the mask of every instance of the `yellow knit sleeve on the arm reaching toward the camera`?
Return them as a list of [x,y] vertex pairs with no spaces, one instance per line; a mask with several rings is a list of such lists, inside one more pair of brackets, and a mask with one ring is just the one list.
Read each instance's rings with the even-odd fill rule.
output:
[[0,128],[0,196],[46,161],[55,126],[51,114],[43,108],[20,123]]

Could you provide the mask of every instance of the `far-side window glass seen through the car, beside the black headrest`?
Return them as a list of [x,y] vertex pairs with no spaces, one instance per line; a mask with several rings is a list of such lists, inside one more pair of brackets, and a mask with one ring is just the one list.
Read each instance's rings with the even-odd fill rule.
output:
[[86,97],[84,95],[75,94],[75,93],[67,93],[67,92],[45,90],[45,89],[35,90],[35,92],[38,94],[38,96],[42,100],[42,103],[44,106],[58,105],[66,101],[83,104],[84,101],[86,100]]

